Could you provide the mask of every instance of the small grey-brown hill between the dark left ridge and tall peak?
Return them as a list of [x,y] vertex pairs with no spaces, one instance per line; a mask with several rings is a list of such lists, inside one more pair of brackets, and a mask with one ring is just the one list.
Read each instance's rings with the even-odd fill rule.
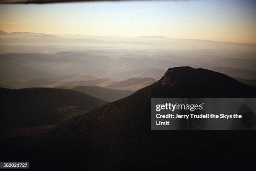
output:
[[80,91],[90,96],[103,99],[105,101],[116,101],[133,93],[133,91],[131,90],[117,90],[98,86],[67,86],[61,88]]

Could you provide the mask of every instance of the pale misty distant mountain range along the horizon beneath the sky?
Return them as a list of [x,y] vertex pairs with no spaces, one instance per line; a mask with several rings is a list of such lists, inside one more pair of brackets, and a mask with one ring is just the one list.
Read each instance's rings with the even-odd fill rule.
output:
[[[197,39],[173,39],[162,36],[92,36],[92,35],[70,35],[70,34],[45,34],[30,32],[6,33],[0,31],[0,42],[2,44],[14,45],[84,45],[100,46],[108,48],[133,48],[133,49],[161,49],[161,50],[195,50],[195,49],[236,49],[252,50],[256,44],[231,43],[211,40]],[[150,47],[150,48],[149,48]]]

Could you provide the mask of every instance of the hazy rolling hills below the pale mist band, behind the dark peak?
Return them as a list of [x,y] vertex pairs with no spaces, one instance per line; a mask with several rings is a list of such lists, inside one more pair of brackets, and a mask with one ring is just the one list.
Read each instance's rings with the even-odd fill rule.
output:
[[[104,53],[106,55],[102,55]],[[203,68],[210,68],[233,78],[256,79],[256,60],[251,59],[203,58],[198,55],[188,60],[175,54],[126,54],[116,57],[117,53],[93,50],[55,54],[2,53],[0,86],[55,88],[96,85],[137,91],[159,80],[167,66],[182,64],[196,65],[196,68],[205,65]]]

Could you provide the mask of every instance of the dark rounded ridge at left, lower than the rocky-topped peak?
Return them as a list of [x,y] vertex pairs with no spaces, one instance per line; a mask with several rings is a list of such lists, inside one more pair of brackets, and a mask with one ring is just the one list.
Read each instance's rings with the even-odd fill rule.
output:
[[53,88],[0,88],[0,94],[4,98],[1,103],[1,128],[56,124],[64,118],[58,108],[80,106],[90,111],[108,103],[78,91]]

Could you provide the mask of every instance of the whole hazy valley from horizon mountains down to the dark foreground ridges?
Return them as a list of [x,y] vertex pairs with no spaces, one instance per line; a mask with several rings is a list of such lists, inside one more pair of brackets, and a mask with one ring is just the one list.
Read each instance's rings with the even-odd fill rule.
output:
[[22,32],[1,32],[0,40],[0,85],[5,88],[96,85],[137,91],[177,66],[207,68],[244,83],[256,79],[254,44]]

